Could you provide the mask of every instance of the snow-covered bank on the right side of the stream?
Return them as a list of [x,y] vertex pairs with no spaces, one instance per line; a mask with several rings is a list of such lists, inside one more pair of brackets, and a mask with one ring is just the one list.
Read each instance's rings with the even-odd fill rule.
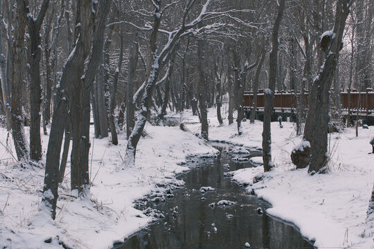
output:
[[[242,122],[243,134],[238,136],[236,123],[219,126],[215,110],[208,116],[210,140],[261,147],[262,122]],[[274,171],[255,184],[253,178],[263,174],[262,167],[232,172],[233,179],[249,184],[248,191],[271,203],[269,214],[294,223],[318,248],[374,248],[374,224],[366,221],[374,183],[374,154],[368,154],[374,127],[360,127],[357,138],[350,128],[330,134],[330,172],[310,176],[307,169],[294,170],[290,154],[301,137],[296,136],[293,123],[283,126],[271,123]],[[187,127],[199,132],[198,124]]]

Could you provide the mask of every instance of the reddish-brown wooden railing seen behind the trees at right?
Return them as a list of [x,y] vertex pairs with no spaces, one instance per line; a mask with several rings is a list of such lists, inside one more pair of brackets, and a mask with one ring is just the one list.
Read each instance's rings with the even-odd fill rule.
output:
[[[308,95],[306,92],[304,94],[303,106],[308,108]],[[296,109],[297,102],[300,102],[300,93],[294,93],[294,91],[281,91],[274,93],[274,109],[286,109],[293,110]],[[296,100],[298,100],[296,102]],[[351,111],[359,111],[371,113],[374,111],[374,92],[373,89],[366,89],[366,92],[350,92],[350,98],[348,98],[347,92],[341,92],[341,109],[348,111],[348,104],[350,104]],[[253,105],[253,92],[244,93],[244,109],[252,109]],[[265,107],[265,96],[264,91],[259,90],[257,94],[257,107]]]

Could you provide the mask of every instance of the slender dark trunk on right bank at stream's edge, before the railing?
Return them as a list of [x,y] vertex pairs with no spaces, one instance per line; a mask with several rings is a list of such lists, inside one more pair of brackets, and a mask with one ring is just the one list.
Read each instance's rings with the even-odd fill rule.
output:
[[278,6],[278,14],[274,22],[272,34],[272,46],[269,57],[269,89],[265,90],[265,112],[262,131],[262,160],[264,161],[264,172],[269,172],[273,167],[271,161],[271,115],[274,109],[274,91],[276,85],[276,64],[278,58],[278,33],[285,9],[285,0],[281,0]]

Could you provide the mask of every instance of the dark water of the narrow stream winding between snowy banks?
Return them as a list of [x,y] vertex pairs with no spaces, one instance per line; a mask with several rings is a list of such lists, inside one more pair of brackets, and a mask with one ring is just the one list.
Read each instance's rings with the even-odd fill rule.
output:
[[[271,219],[265,212],[258,214],[258,208],[266,210],[269,204],[246,194],[243,187],[224,176],[224,172],[253,165],[231,160],[227,148],[217,149],[221,151],[217,158],[188,163],[199,167],[181,176],[186,186],[174,191],[175,198],[154,206],[165,219],[114,248],[245,248],[246,242],[251,248],[313,248],[292,226]],[[224,167],[227,163],[229,170]],[[206,186],[215,190],[199,192]],[[220,200],[236,204],[209,205]]]

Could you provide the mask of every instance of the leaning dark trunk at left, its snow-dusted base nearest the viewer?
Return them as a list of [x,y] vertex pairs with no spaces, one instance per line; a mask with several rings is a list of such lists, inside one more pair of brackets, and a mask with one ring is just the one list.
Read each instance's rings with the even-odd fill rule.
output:
[[[66,59],[60,84],[56,89],[55,105],[53,110],[53,120],[51,134],[48,140],[48,149],[46,154],[46,172],[44,175],[44,195],[42,204],[51,212],[52,219],[55,219],[56,205],[58,198],[58,181],[59,181],[59,163],[60,152],[62,147],[62,138],[68,115],[68,102],[73,95],[73,86],[71,82],[77,80],[79,73],[78,68],[84,64],[84,60],[89,52],[89,25],[87,18],[91,15],[91,1],[78,0],[77,19],[80,19],[81,26],[78,26],[77,32],[80,33],[79,39],[75,44],[73,52]],[[78,21],[78,20],[77,20]],[[88,39],[88,41],[87,41]]]

